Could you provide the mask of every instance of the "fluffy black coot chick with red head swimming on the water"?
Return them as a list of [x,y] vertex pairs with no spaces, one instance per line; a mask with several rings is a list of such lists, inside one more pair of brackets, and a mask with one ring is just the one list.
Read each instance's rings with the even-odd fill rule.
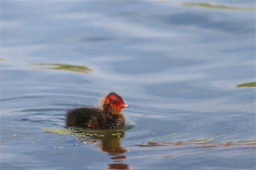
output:
[[128,105],[121,96],[110,92],[103,96],[97,107],[82,106],[67,111],[67,126],[81,128],[112,129],[125,125],[125,116],[121,112]]

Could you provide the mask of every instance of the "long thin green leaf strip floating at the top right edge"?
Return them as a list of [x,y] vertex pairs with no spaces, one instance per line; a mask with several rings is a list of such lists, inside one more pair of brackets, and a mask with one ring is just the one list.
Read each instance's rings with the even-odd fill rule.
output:
[[239,7],[239,6],[226,6],[226,5],[213,5],[206,2],[185,2],[182,3],[183,6],[192,6],[192,7],[205,7],[205,8],[214,8],[219,10],[240,10],[240,11],[255,11],[255,7]]

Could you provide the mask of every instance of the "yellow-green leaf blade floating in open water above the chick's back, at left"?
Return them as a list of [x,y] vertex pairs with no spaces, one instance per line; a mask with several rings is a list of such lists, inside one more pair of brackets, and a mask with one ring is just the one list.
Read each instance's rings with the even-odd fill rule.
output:
[[68,65],[64,63],[32,63],[31,65],[40,65],[40,66],[53,66],[53,67],[44,67],[40,69],[50,69],[50,70],[65,70],[65,71],[73,71],[76,73],[88,73],[92,71],[87,66],[80,65]]

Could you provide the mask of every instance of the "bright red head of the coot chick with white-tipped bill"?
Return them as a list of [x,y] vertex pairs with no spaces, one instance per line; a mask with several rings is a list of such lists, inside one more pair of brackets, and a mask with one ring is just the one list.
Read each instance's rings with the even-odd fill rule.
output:
[[122,97],[114,92],[110,92],[108,96],[105,97],[104,105],[109,105],[109,111],[113,114],[118,114],[123,108],[128,107],[128,105],[123,102]]

